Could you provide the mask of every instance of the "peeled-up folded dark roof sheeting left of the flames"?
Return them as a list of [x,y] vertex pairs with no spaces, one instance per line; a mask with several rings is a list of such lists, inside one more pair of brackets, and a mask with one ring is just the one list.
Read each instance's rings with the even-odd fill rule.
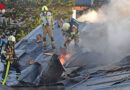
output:
[[59,56],[54,54],[47,61],[35,62],[22,72],[19,84],[12,86],[55,85],[64,72]]

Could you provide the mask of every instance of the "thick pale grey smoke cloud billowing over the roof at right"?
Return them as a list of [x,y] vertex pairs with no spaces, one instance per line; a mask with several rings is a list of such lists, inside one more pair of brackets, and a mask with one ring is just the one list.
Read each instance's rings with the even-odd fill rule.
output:
[[103,54],[107,63],[130,55],[130,0],[111,0],[78,20],[89,22],[81,26],[81,46]]

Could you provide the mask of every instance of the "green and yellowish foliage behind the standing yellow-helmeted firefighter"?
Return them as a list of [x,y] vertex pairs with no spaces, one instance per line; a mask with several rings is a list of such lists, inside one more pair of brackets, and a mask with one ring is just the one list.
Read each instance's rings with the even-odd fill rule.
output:
[[[4,0],[6,9],[8,9],[4,17],[9,18],[7,27],[11,26],[10,20],[14,23],[24,22],[23,25],[15,28],[16,39],[19,41],[40,24],[43,5],[49,8],[55,19],[62,17],[65,20],[71,17],[74,2],[75,0]],[[5,22],[3,24],[2,26],[5,27]]]

